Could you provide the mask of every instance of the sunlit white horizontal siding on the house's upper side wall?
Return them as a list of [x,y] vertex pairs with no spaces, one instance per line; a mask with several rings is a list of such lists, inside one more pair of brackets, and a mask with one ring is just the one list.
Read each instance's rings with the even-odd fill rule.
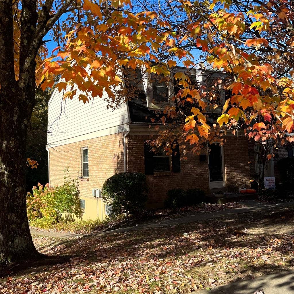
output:
[[86,139],[119,133],[128,129],[126,103],[114,111],[107,109],[106,92],[102,98],[92,98],[86,104],[74,98],[63,100],[63,92],[54,91],[48,106],[48,148]]

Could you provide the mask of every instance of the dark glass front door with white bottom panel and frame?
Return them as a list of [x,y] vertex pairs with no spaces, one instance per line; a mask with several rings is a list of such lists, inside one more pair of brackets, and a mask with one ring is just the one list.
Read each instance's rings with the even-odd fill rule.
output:
[[209,188],[222,188],[225,186],[223,146],[209,144],[208,151]]

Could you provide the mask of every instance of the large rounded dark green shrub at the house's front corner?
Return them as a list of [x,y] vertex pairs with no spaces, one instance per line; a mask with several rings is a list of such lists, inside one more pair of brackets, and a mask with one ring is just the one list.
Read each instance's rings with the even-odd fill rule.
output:
[[113,214],[141,216],[147,201],[146,176],[143,173],[117,173],[108,178],[102,195],[112,206]]

